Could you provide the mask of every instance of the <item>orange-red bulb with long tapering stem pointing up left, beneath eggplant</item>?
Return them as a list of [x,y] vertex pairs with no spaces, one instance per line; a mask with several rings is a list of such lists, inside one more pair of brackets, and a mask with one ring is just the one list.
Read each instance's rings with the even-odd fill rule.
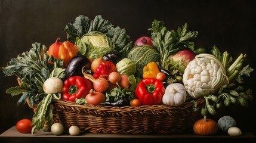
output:
[[82,69],[82,73],[84,74],[85,79],[88,79],[92,82],[95,91],[105,92],[109,88],[109,82],[107,79],[104,79],[103,77],[95,79],[91,74],[85,73],[84,68]]

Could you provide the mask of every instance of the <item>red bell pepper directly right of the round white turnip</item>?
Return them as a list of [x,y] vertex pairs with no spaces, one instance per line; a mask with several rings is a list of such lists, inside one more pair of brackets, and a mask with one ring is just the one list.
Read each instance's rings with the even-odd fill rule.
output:
[[69,77],[64,81],[62,99],[75,102],[76,98],[85,98],[92,88],[92,82],[82,76]]

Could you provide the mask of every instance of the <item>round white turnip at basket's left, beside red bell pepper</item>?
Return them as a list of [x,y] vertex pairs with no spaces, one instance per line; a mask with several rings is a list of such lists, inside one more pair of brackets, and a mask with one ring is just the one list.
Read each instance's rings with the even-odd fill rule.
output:
[[43,89],[46,94],[60,93],[63,89],[63,81],[58,77],[50,77],[45,80]]

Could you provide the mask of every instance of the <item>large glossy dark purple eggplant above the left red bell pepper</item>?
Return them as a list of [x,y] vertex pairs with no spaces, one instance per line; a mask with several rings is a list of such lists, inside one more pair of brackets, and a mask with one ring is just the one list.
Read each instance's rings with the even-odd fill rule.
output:
[[71,76],[84,76],[82,74],[82,68],[84,70],[91,70],[91,62],[84,55],[77,55],[73,57],[66,68],[66,78]]

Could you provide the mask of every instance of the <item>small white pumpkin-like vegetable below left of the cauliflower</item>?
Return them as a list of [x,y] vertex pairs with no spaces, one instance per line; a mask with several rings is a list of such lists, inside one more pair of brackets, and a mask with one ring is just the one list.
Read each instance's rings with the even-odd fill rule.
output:
[[186,88],[181,83],[172,83],[165,88],[163,103],[165,105],[177,106],[186,101]]

